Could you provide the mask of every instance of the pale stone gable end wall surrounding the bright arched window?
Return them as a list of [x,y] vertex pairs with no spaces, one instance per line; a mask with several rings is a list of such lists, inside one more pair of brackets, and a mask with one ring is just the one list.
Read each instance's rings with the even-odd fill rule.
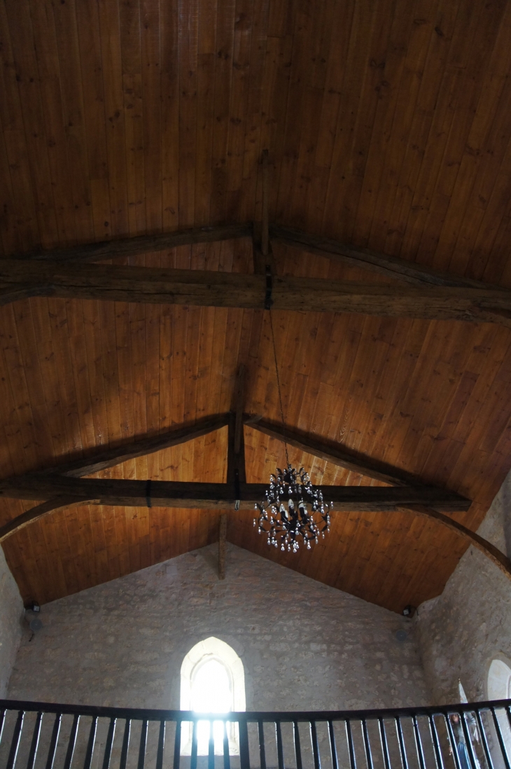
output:
[[429,701],[412,622],[234,545],[224,581],[212,545],[45,604],[41,621],[9,697],[179,707],[184,655],[214,636],[243,661],[247,710]]

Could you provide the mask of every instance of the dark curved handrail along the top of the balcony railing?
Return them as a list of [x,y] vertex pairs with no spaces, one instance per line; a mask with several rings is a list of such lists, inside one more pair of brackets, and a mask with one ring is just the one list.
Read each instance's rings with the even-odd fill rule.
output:
[[0,711],[25,711],[61,715],[126,718],[132,721],[358,721],[367,718],[397,718],[448,715],[492,708],[511,708],[511,699],[482,702],[424,705],[419,707],[386,707],[357,711],[230,711],[229,713],[197,713],[195,711],[159,710],[141,707],[109,707],[102,705],[70,705],[55,702],[0,700]]

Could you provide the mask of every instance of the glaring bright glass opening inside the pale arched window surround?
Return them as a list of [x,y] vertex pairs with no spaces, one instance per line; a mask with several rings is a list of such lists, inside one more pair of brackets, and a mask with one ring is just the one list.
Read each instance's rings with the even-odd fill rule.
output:
[[[232,709],[231,682],[221,662],[210,659],[195,672],[191,684],[191,707],[196,713],[228,713]],[[214,752],[224,753],[224,723],[213,726]],[[199,755],[206,755],[209,741],[209,723],[197,724],[197,748]]]

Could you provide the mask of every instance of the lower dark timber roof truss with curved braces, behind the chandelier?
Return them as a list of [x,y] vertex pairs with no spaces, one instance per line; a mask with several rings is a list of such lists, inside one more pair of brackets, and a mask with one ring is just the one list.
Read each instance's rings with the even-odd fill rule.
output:
[[[40,499],[48,498],[42,504],[26,511],[18,518],[0,528],[0,541],[24,528],[33,521],[53,511],[79,504],[121,504],[125,506],[172,507],[172,508],[231,508],[252,511],[257,501],[264,498],[264,484],[247,484],[244,469],[243,423],[250,424],[270,437],[284,440],[278,428],[271,423],[254,421],[244,417],[243,376],[241,367],[237,378],[235,408],[231,414],[218,414],[193,424],[181,425],[165,434],[138,439],[131,444],[117,448],[95,451],[88,458],[66,462],[58,467],[31,474],[8,478],[0,484],[0,495],[7,498]],[[82,478],[128,459],[159,451],[161,448],[193,440],[208,432],[228,425],[227,482],[224,484],[182,483],[172,481],[131,481],[110,478]],[[385,480],[394,484],[389,487],[374,486],[320,486],[324,498],[333,501],[334,511],[410,511],[434,518],[456,531],[482,551],[509,578],[511,561],[491,543],[479,537],[452,518],[445,511],[464,511],[470,507],[470,500],[453,491],[421,484],[413,476],[405,476],[397,468],[390,468],[373,460],[364,461],[357,454],[334,448],[316,436],[307,436],[297,431],[286,433],[290,445],[307,451],[327,461],[333,461],[344,468],[356,470],[370,478]],[[407,481],[415,481],[414,484]],[[226,518],[221,519],[219,543],[220,573],[225,570]],[[223,536],[222,536],[223,532]]]

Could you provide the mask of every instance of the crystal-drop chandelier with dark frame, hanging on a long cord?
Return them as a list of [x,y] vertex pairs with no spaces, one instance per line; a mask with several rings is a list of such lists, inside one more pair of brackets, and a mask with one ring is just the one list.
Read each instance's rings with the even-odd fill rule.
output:
[[311,542],[324,538],[325,532],[330,531],[330,511],[333,504],[323,500],[320,489],[314,488],[309,474],[300,468],[297,471],[291,467],[287,455],[286,423],[280,394],[280,379],[277,366],[277,351],[275,349],[274,324],[270,310],[271,339],[274,346],[275,374],[280,404],[280,418],[284,434],[287,468],[277,474],[270,475],[270,487],[266,491],[266,499],[256,504],[259,518],[254,518],[259,534],[267,534],[267,542],[280,550],[293,551],[300,548],[300,541],[307,544],[310,550]]

